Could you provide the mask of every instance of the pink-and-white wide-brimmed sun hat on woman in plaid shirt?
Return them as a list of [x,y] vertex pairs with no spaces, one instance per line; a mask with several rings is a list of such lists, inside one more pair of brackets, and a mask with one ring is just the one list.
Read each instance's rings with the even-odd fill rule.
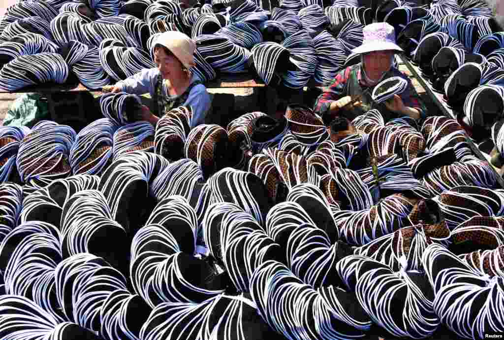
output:
[[386,22],[366,25],[362,32],[364,34],[362,45],[354,48],[352,54],[386,50],[403,52],[403,49],[396,44],[394,27]]

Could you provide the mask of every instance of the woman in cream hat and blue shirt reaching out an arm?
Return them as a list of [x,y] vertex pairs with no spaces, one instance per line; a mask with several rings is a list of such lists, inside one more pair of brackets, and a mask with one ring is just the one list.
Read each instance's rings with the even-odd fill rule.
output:
[[191,72],[196,43],[181,32],[168,31],[161,33],[153,46],[157,67],[119,81],[109,91],[149,93],[154,100],[154,113],[144,105],[142,118],[154,126],[160,116],[180,105],[192,107],[192,128],[204,123],[211,100],[205,85]]

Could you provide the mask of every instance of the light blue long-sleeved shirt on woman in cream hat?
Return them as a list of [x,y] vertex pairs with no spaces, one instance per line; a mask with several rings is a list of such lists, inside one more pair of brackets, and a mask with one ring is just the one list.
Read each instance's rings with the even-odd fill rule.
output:
[[[124,92],[137,95],[149,93],[151,98],[154,98],[154,91],[158,76],[159,70],[157,68],[143,69],[139,73],[117,82],[116,86],[119,86]],[[197,75],[193,75],[191,83],[197,80],[200,80],[200,78]],[[168,86],[166,86],[165,82],[163,82],[163,88],[161,89],[161,91],[162,94],[167,98],[173,99],[177,97],[168,93]],[[185,102],[183,103],[184,106],[191,106],[193,108],[191,128],[205,123],[205,117],[208,110],[210,109],[210,104],[210,95],[208,94],[205,85],[198,84],[191,89],[187,100],[185,100]]]

